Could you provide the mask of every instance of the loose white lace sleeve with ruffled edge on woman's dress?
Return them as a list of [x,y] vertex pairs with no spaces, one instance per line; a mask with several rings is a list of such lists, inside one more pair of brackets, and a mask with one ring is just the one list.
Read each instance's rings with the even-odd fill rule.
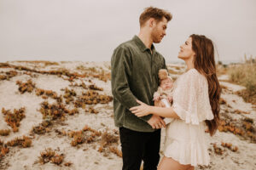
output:
[[173,94],[173,110],[186,123],[212,120],[207,79],[195,69],[184,73]]

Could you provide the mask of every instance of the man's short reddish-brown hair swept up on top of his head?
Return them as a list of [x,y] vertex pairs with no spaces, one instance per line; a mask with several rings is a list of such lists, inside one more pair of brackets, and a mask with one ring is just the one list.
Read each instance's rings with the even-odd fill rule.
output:
[[160,21],[163,19],[163,17],[166,18],[167,22],[172,20],[172,14],[164,9],[154,7],[145,8],[143,14],[140,15],[140,26],[143,26],[150,18]]

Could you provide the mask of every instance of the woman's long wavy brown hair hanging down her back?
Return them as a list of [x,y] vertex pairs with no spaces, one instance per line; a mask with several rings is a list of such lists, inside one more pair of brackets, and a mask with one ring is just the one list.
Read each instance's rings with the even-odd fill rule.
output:
[[205,122],[212,136],[218,128],[219,98],[221,94],[221,88],[216,76],[214,47],[212,40],[205,36],[192,34],[190,37],[192,38],[192,49],[195,52],[195,69],[204,75],[208,82],[208,93],[214,118]]

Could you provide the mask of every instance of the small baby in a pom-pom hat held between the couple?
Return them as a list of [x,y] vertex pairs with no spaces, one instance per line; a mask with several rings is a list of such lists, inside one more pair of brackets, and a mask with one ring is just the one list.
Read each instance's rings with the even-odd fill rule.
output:
[[[161,101],[166,107],[171,107],[173,91],[172,77],[168,76],[166,69],[160,69],[158,76],[160,78],[160,87],[154,93],[154,101]],[[172,122],[172,118],[165,118],[165,122],[166,124]]]

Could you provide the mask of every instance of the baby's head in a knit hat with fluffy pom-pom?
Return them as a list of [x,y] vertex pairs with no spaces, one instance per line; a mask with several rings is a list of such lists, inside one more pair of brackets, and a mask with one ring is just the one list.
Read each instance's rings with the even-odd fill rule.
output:
[[158,72],[158,76],[160,78],[160,87],[163,88],[163,90],[172,88],[172,77],[168,76],[168,72],[166,69],[160,69],[160,71]]

